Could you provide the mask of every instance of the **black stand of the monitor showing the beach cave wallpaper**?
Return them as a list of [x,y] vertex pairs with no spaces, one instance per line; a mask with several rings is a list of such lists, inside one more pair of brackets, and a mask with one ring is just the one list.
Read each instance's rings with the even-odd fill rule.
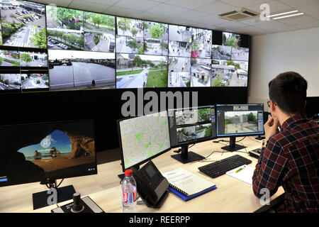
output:
[[[45,183],[44,183],[45,184]],[[68,185],[65,187],[57,187],[57,180],[54,181],[49,181],[48,184],[50,185],[51,188],[55,188],[57,190],[57,203],[60,203],[62,201],[67,201],[69,199],[73,199],[73,194],[75,193],[75,189],[73,185]],[[48,194],[47,191],[43,192],[38,192],[38,193],[33,193],[33,210],[35,209],[40,209],[45,206],[50,206],[48,204],[47,199],[49,196],[52,194]]]

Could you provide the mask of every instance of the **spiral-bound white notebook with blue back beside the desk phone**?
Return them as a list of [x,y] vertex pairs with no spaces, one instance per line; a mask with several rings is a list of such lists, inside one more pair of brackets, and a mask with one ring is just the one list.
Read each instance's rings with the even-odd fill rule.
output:
[[162,172],[162,175],[169,182],[169,191],[177,194],[184,201],[194,199],[217,188],[216,184],[194,175],[183,168]]

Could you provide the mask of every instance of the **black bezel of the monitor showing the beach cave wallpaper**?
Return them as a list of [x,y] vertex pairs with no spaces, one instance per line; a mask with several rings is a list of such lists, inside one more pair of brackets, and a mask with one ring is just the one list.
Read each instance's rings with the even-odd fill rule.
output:
[[[97,175],[98,174],[98,170],[97,170],[97,158],[96,158],[96,133],[95,133],[95,121],[94,119],[82,119],[82,120],[71,120],[71,121],[43,121],[43,122],[39,122],[39,123],[18,123],[18,124],[11,124],[11,125],[3,125],[0,126],[1,127],[15,127],[15,126],[35,126],[35,125],[42,125],[42,124],[49,124],[49,123],[79,123],[79,122],[91,122],[92,126],[93,126],[93,137],[94,137],[94,153],[95,153],[95,161],[94,161],[94,167],[95,170],[90,172],[89,174],[86,175],[69,175],[67,177],[55,177],[55,178],[47,178],[47,182],[50,181],[55,181],[57,179],[67,179],[67,178],[72,178],[72,177],[84,177],[84,176],[90,176],[90,175]],[[16,151],[18,152],[18,150]],[[16,184],[4,184],[1,185],[0,187],[6,187],[6,186],[13,186],[13,185],[18,185],[18,184],[29,184],[29,183],[35,183],[35,182],[39,182],[38,180],[30,180],[27,182],[19,182]],[[7,183],[7,182],[6,182]],[[46,183],[46,182],[45,182]]]

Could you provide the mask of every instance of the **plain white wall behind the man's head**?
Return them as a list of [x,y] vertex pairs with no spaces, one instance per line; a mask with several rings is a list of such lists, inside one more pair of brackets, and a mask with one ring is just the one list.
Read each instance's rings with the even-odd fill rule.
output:
[[267,111],[268,83],[277,74],[295,71],[307,82],[307,96],[319,96],[319,28],[252,36],[248,103]]

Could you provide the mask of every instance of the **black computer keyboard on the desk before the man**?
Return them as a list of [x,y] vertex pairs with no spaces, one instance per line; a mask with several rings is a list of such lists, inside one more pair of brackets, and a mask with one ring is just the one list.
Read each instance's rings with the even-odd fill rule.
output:
[[245,157],[242,157],[240,155],[233,155],[217,162],[198,167],[198,170],[208,175],[209,177],[215,178],[219,177],[220,175],[224,175],[229,170],[233,170],[237,167],[248,165],[250,163],[252,163],[252,161]]

